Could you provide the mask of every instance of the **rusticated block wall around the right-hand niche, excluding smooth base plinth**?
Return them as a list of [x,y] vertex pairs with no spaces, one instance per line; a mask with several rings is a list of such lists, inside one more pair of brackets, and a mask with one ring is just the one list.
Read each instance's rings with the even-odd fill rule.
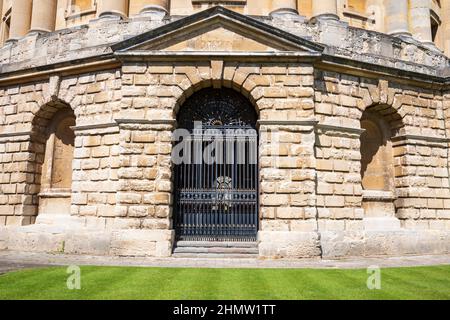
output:
[[[326,208],[319,209],[319,219],[364,217],[360,119],[373,106],[395,132],[396,217],[406,228],[433,228],[436,219],[448,219],[448,139],[439,91],[328,72],[316,73],[316,88],[322,131],[316,146],[318,207]],[[346,228],[343,221],[336,227]]]

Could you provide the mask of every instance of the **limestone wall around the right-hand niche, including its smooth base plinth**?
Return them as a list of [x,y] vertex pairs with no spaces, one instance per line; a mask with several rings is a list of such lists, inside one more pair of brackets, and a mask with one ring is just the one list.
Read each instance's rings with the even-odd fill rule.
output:
[[[441,93],[322,71],[316,72],[316,88],[317,210],[323,255],[425,252],[430,241],[436,248],[448,248],[448,139]],[[382,113],[398,128],[393,138],[396,199],[383,200],[393,201],[393,217],[383,207],[376,210],[377,217],[363,209],[360,119],[374,105],[383,106]],[[442,230],[447,233],[438,241]],[[427,232],[435,240],[427,238]]]

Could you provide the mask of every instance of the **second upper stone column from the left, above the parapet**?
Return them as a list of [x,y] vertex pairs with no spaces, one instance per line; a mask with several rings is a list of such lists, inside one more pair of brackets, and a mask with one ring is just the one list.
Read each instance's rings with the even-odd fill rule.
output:
[[30,32],[52,32],[56,23],[56,0],[33,0]]

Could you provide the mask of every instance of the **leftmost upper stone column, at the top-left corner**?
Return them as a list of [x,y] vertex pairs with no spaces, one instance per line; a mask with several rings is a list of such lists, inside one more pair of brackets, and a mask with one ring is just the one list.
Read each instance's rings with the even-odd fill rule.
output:
[[24,37],[30,30],[32,0],[14,0],[8,41]]

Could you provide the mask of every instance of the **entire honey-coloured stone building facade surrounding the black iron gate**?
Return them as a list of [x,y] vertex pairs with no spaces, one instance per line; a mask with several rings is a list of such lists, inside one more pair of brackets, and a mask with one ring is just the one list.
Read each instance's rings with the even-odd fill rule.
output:
[[189,106],[255,115],[253,187],[212,183],[255,192],[260,257],[450,252],[450,1],[0,8],[0,249],[172,255]]

